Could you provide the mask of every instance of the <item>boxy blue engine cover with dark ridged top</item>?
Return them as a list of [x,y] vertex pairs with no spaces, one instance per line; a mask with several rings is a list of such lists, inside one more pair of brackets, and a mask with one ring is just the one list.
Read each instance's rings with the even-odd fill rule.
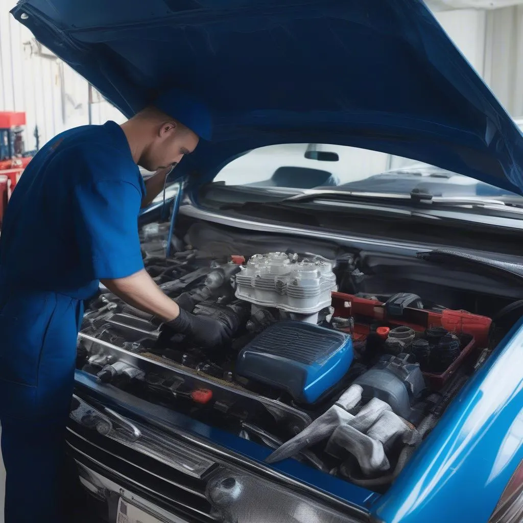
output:
[[295,401],[315,402],[335,385],[353,361],[347,334],[312,323],[275,323],[238,355],[236,372],[277,389]]

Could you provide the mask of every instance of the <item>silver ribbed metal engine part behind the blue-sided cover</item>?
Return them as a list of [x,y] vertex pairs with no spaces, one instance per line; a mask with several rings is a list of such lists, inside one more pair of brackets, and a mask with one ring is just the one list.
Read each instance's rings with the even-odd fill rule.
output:
[[337,289],[332,264],[316,256],[255,254],[236,275],[236,297],[265,307],[314,314],[331,306]]

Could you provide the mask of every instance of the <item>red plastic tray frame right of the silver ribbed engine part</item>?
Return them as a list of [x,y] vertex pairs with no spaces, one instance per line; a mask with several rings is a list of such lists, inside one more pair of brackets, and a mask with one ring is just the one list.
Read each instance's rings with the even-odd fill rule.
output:
[[466,311],[444,310],[441,313],[423,309],[405,307],[401,316],[388,315],[385,304],[377,300],[360,298],[353,294],[342,292],[332,293],[333,316],[354,317],[353,337],[355,340],[365,340],[370,333],[371,324],[379,323],[379,336],[388,335],[386,328],[406,326],[416,333],[423,334],[427,328],[443,327],[449,333],[457,336],[468,335],[471,340],[463,347],[458,358],[440,374],[424,372],[431,383],[437,387],[444,384],[467,358],[472,350],[488,345],[492,320],[486,316],[471,314]]

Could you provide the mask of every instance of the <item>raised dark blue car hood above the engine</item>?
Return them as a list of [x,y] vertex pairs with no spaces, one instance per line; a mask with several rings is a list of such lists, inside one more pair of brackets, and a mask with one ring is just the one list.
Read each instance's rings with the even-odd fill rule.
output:
[[[420,0],[22,0],[17,20],[125,115],[196,94],[209,181],[276,143],[406,156],[523,193],[523,137]],[[175,116],[175,115],[174,115]]]

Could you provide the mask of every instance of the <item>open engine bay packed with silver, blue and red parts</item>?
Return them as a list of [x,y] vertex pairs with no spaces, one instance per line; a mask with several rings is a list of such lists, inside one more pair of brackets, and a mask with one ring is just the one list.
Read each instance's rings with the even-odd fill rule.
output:
[[352,256],[223,256],[141,230],[164,293],[226,324],[203,350],[107,289],[84,314],[77,368],[143,399],[377,492],[401,472],[494,346],[487,315],[412,292],[369,293]]

